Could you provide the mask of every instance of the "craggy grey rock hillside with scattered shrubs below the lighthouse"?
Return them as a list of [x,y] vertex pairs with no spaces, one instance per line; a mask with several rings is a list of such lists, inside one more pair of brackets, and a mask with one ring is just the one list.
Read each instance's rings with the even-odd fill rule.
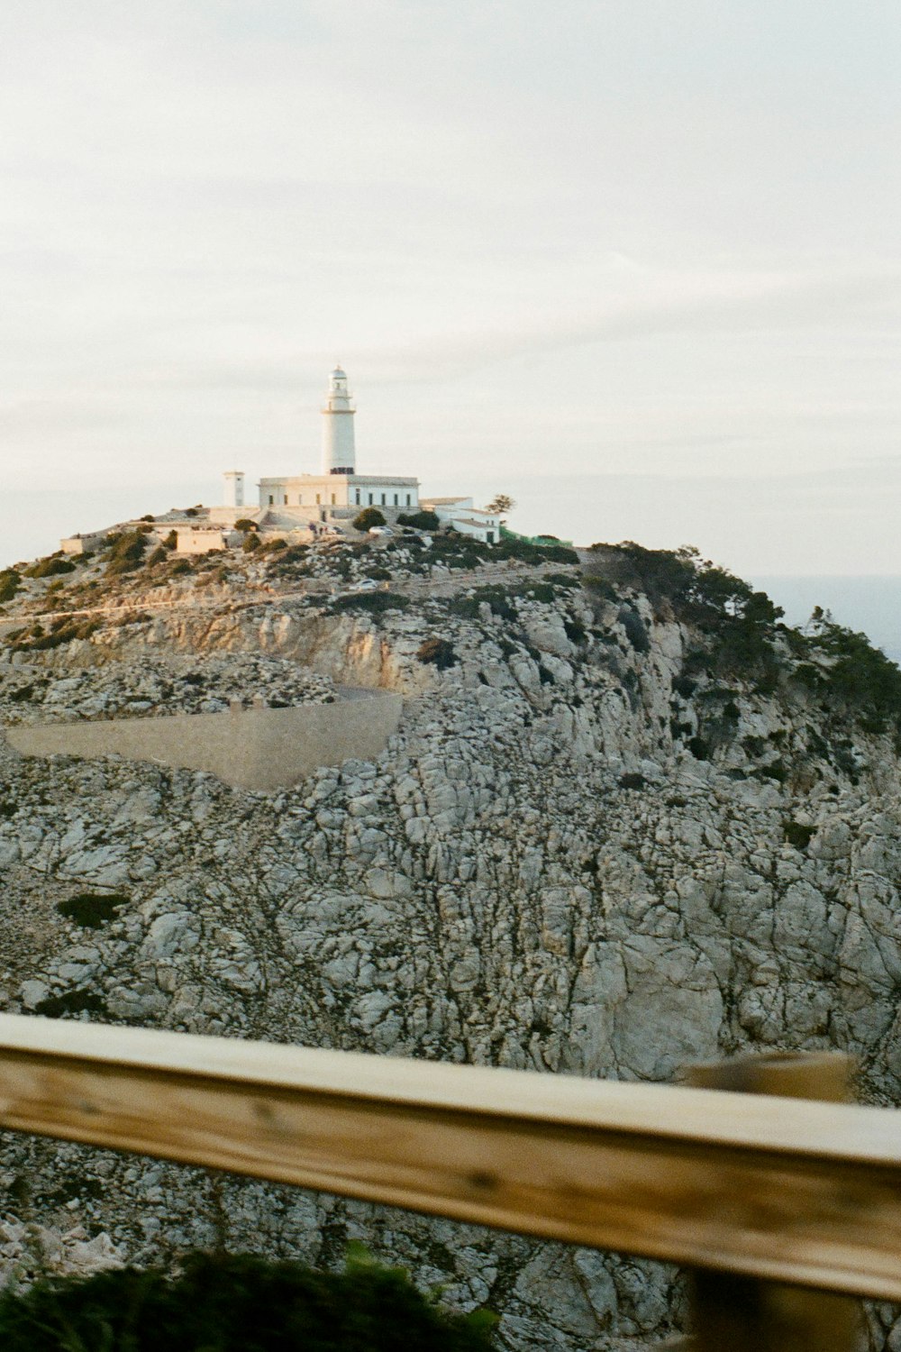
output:
[[[139,534],[0,573],[4,723],[342,681],[401,692],[401,727],[269,794],[0,745],[5,1009],[650,1080],[835,1046],[898,1102],[901,673],[860,635],[785,629],[692,552],[411,531],[186,560]],[[503,1311],[509,1348],[646,1348],[684,1317],[631,1259],[41,1141],[4,1171],[8,1224],[138,1261],[365,1238]]]

